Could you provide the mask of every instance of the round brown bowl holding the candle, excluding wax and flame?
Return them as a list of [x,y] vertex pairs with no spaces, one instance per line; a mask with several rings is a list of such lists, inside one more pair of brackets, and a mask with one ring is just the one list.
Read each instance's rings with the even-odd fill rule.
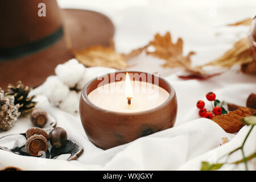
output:
[[[117,75],[117,73],[126,72],[112,74]],[[128,71],[128,73],[140,74],[143,72]],[[146,74],[152,76],[150,73]],[[110,78],[110,73],[108,77]],[[119,113],[97,107],[89,101],[87,96],[97,88],[101,80],[94,78],[89,81],[82,89],[79,109],[82,126],[89,140],[97,147],[106,150],[173,127],[177,114],[176,93],[173,86],[166,80],[158,78],[159,86],[170,93],[170,96],[162,105],[137,113]],[[152,84],[154,84],[154,80]]]

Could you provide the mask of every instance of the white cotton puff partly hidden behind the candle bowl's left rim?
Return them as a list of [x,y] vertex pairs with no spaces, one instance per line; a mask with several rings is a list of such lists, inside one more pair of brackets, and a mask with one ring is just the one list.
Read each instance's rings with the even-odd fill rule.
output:
[[85,73],[82,79],[77,83],[76,88],[81,90],[84,85],[90,81],[92,78],[95,78],[100,75],[104,75],[106,73],[112,73],[115,72],[115,69],[113,68],[106,68],[106,67],[90,67],[85,68]]

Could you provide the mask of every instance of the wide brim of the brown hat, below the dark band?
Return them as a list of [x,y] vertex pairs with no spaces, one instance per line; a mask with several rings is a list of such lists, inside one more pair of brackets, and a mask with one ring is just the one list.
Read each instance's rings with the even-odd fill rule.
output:
[[0,87],[22,81],[35,88],[55,74],[57,64],[72,59],[72,50],[88,46],[110,46],[114,25],[105,15],[89,10],[61,9],[65,36],[36,53],[0,61]]

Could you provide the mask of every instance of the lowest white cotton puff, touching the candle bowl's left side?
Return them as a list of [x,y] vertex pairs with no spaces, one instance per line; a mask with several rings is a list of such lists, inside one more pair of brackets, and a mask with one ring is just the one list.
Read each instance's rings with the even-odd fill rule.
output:
[[59,105],[60,109],[71,114],[79,113],[79,99],[75,91],[69,92],[67,98]]

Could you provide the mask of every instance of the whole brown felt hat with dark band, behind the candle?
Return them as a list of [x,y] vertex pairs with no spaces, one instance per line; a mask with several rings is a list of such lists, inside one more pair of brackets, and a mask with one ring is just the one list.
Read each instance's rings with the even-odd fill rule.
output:
[[107,16],[89,10],[59,9],[55,0],[0,1],[0,23],[3,89],[19,80],[36,87],[54,75],[57,64],[71,59],[73,51],[110,46],[114,35]]

